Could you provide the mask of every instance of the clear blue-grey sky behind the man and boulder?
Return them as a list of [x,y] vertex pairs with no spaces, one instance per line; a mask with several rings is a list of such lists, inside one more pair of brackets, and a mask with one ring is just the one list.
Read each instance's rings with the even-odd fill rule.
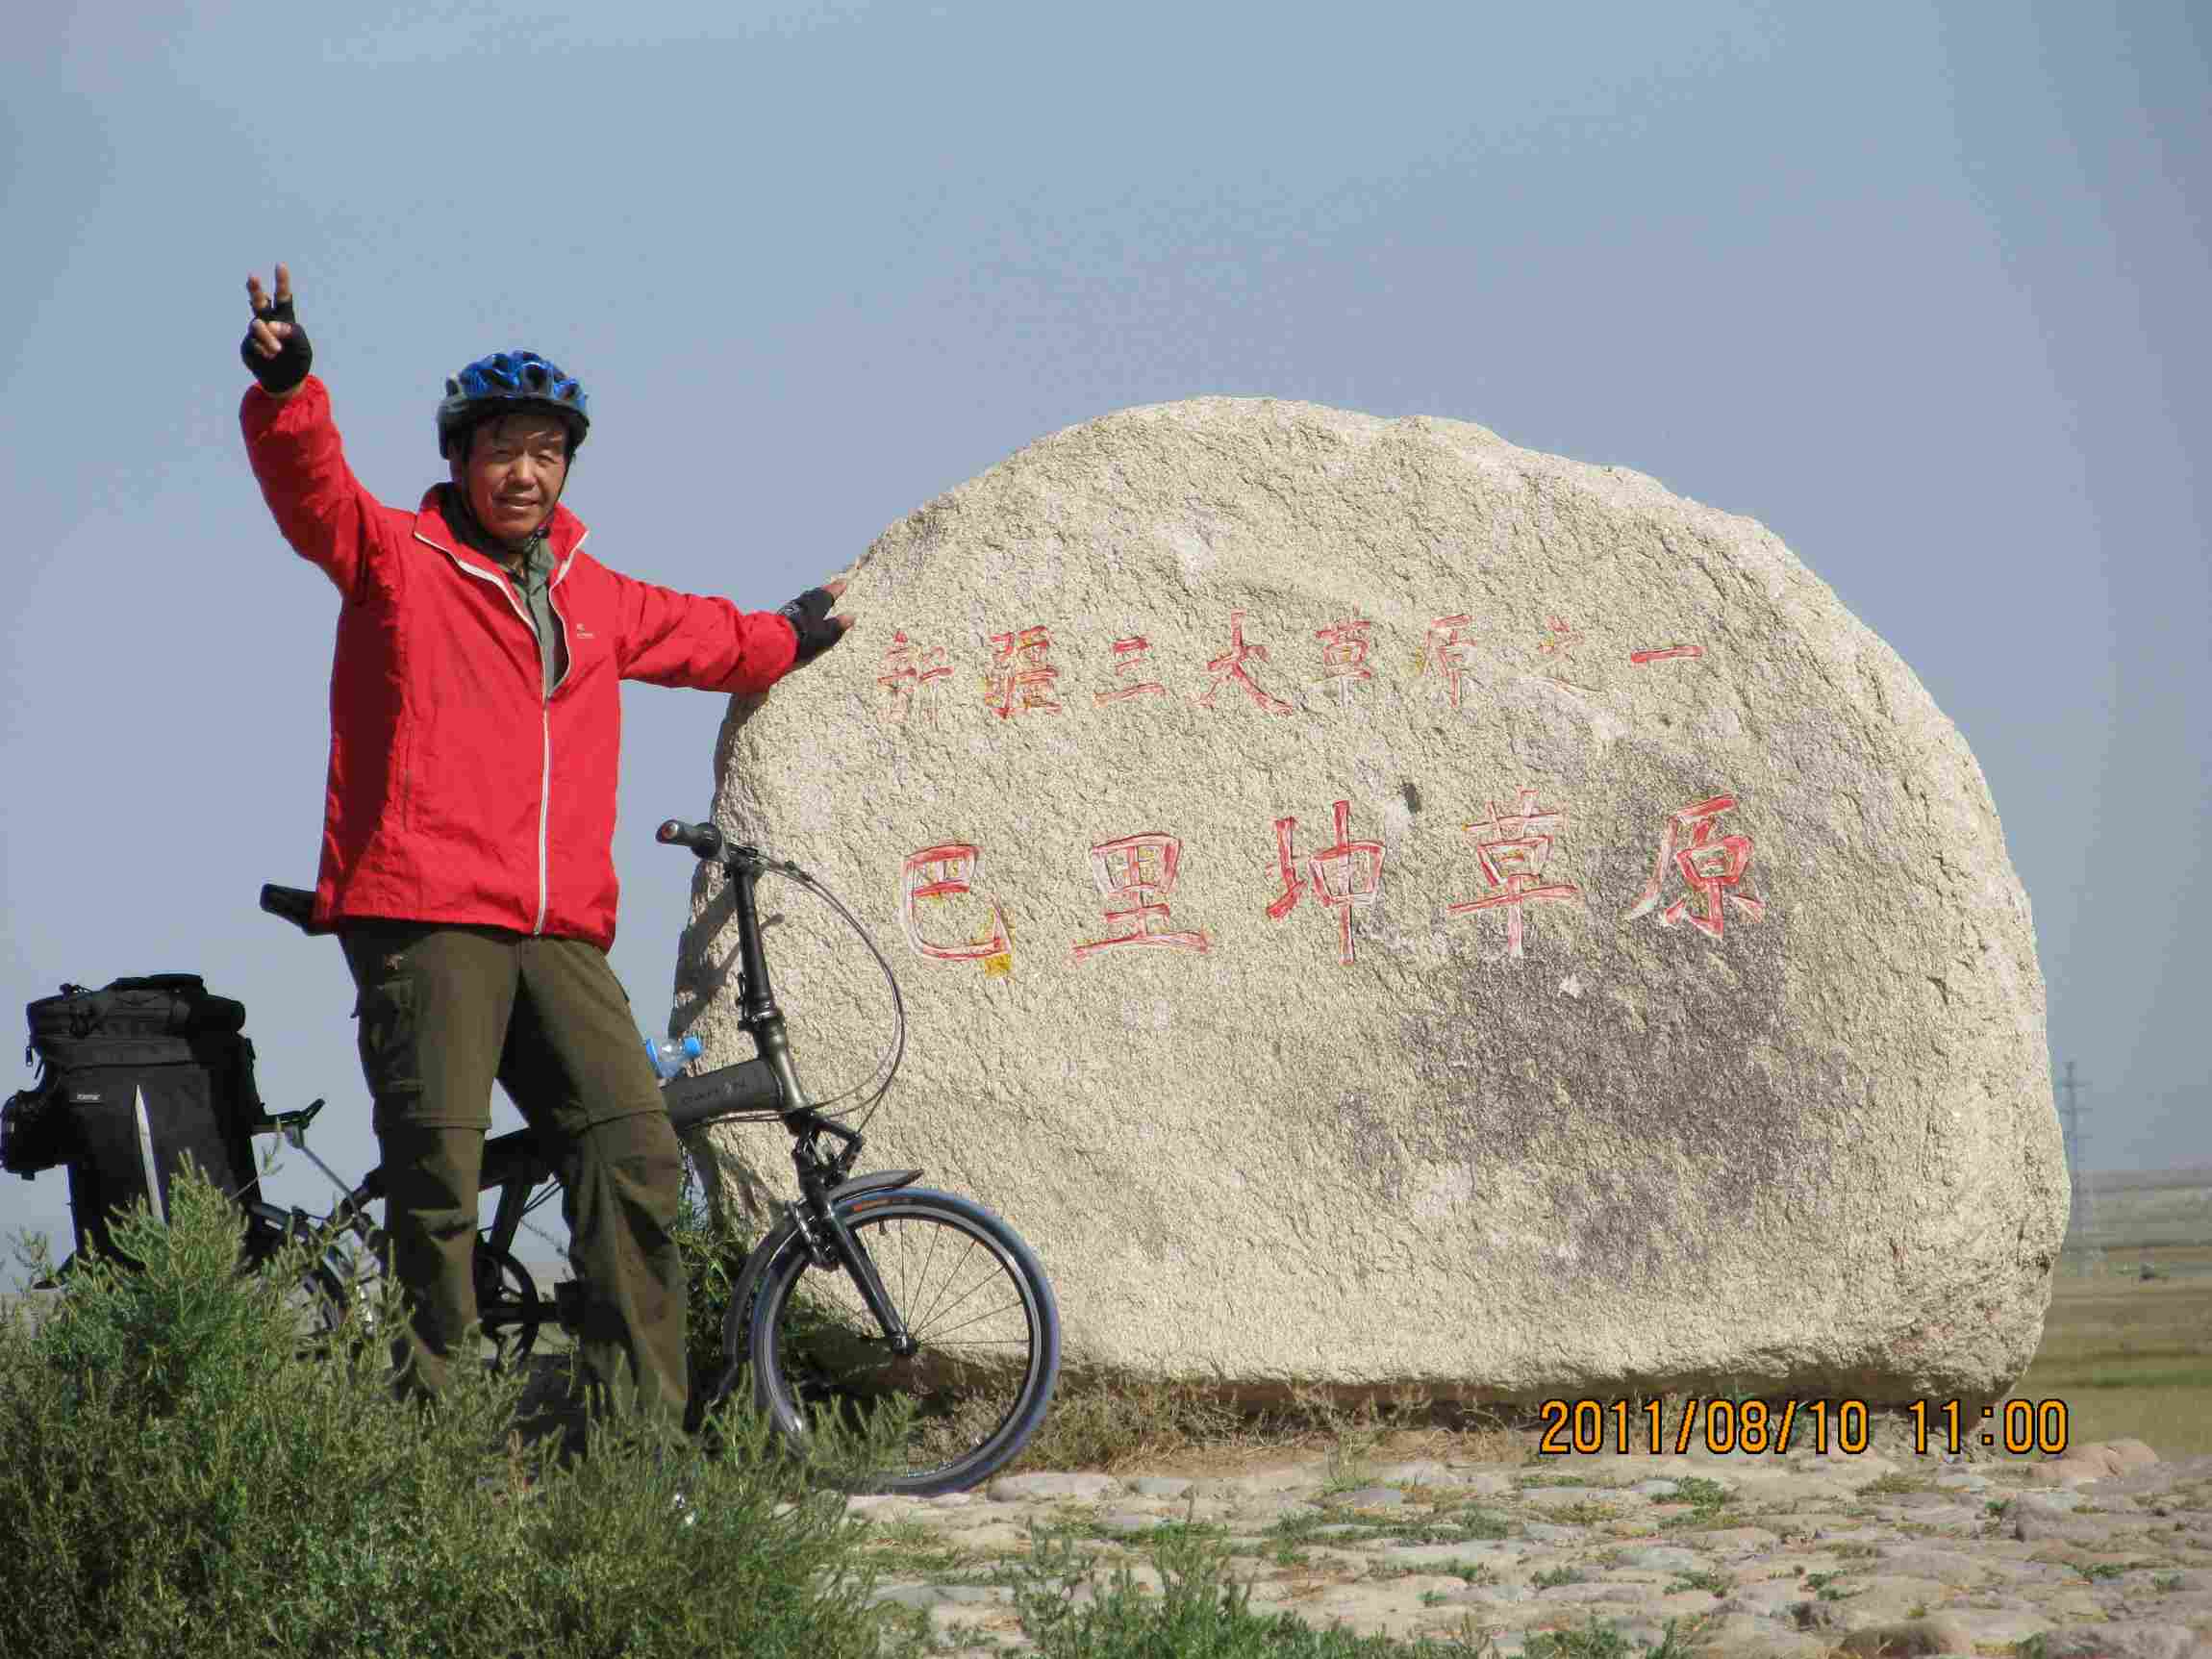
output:
[[[237,440],[243,279],[285,259],[372,489],[411,502],[442,378],[526,345],[593,394],[593,551],[745,606],[1197,394],[1480,420],[1750,513],[1973,745],[2088,1166],[2212,1161],[2208,15],[35,9],[0,1013],[199,971],[270,1099],[374,1157],[338,951],[254,909],[312,880],[327,743],[334,599]],[[650,825],[703,810],[723,699],[626,699],[615,967],[657,1024],[690,860]],[[0,1183],[18,1225],[66,1234],[58,1172]]]

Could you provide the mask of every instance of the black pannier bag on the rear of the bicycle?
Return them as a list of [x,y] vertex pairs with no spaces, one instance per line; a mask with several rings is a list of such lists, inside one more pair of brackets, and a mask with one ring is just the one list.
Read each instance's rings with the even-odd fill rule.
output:
[[108,1252],[108,1223],[146,1201],[168,1219],[184,1159],[239,1201],[261,1197],[261,1119],[246,1004],[197,973],[64,984],[29,1006],[38,1084],[0,1108],[0,1168],[69,1166],[77,1250]]

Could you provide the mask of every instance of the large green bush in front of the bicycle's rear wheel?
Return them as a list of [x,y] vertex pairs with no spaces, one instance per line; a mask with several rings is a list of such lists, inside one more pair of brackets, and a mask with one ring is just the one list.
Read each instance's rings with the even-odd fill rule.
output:
[[35,1327],[0,1318],[0,1652],[878,1650],[843,1500],[750,1416],[714,1458],[595,1427],[562,1460],[513,1433],[520,1378],[425,1409],[378,1345],[305,1345],[305,1259],[241,1279],[199,1179],[115,1241],[144,1265],[84,1259]]

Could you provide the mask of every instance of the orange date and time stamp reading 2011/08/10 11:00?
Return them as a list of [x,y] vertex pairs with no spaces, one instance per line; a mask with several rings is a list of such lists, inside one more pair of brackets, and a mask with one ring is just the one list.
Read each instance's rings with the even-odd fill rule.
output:
[[[1723,1455],[1781,1455],[1792,1444],[1812,1451],[1858,1453],[1867,1449],[1869,1407],[1865,1400],[1705,1400],[1690,1396],[1677,1405],[1674,1431],[1666,1429],[1666,1400],[1540,1400],[1546,1458],[1593,1458],[1599,1453],[1646,1453],[1677,1458],[1690,1451]],[[2059,1455],[2066,1451],[2064,1400],[1913,1400],[1905,1407],[1913,1422],[1913,1451],[1958,1455],[1966,1447]]]

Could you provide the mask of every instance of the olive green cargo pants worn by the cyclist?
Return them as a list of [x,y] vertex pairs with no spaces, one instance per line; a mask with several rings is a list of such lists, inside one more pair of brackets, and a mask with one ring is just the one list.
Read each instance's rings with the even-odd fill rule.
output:
[[[562,1175],[580,1358],[602,1409],[681,1422],[684,1155],[606,953],[495,927],[347,922],[385,1232],[411,1303],[407,1385],[445,1387],[476,1323],[476,1201],[491,1084]],[[467,1349],[473,1354],[473,1345]]]

